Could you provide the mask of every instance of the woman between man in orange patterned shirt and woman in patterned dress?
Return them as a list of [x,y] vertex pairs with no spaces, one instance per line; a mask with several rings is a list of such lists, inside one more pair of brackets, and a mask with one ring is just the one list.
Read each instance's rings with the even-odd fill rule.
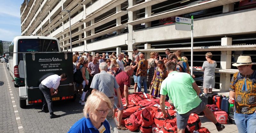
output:
[[149,90],[152,88],[152,85],[150,84],[151,81],[153,80],[156,64],[158,60],[156,58],[156,53],[151,52],[150,53],[150,58],[148,59],[148,84],[149,84]]

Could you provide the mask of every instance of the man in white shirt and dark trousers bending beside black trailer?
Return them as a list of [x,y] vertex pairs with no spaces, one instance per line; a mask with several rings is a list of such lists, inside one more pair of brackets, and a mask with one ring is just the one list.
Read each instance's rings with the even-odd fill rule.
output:
[[[42,112],[45,112],[45,113],[50,112],[51,119],[58,118],[60,117],[60,115],[53,114],[52,98],[50,95],[57,94],[60,81],[65,81],[66,79],[67,79],[67,74],[61,74],[60,76],[57,74],[54,74],[45,78],[39,85],[39,89],[44,94]],[[49,110],[47,109],[47,105]]]

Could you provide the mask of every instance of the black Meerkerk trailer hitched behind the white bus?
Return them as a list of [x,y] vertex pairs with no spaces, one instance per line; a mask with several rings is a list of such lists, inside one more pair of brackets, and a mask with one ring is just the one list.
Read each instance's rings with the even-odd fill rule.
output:
[[58,94],[52,96],[52,101],[76,99],[72,55],[72,52],[23,53],[25,87],[19,87],[20,108],[26,107],[26,99],[28,104],[43,102],[44,95],[38,86],[41,81],[53,74],[65,73],[68,78],[60,82]]

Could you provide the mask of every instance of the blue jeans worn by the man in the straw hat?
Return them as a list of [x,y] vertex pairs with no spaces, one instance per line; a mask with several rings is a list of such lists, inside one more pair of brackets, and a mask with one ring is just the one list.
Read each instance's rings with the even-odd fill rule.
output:
[[234,113],[234,119],[239,133],[256,133],[256,113]]

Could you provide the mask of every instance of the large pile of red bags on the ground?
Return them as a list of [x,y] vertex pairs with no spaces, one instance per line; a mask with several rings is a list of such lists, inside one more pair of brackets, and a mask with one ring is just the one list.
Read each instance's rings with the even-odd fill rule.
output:
[[[149,97],[148,94],[145,94]],[[129,106],[125,108],[122,124],[130,131],[140,130],[142,133],[176,133],[177,120],[174,106],[165,101],[165,112],[168,118],[164,119],[160,108],[160,99],[147,99],[143,93],[133,93],[128,97]],[[122,99],[125,104],[125,98]],[[117,112],[115,114],[117,119]],[[188,119],[186,132],[210,133],[208,129],[201,127],[198,115],[192,113]]]

